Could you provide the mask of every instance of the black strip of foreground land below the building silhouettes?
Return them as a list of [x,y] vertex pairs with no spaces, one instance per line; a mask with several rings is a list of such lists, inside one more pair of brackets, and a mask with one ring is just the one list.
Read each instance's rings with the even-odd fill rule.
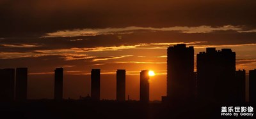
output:
[[[138,101],[30,100],[1,102],[0,118],[255,118],[221,116],[221,106],[253,106],[252,104],[218,104],[203,101],[142,103]],[[255,106],[253,106],[255,108]]]

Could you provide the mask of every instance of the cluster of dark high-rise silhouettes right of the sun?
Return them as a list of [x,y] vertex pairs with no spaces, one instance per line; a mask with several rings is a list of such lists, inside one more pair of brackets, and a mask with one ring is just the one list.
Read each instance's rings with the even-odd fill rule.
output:
[[[206,48],[196,55],[196,72],[193,46],[170,46],[167,55],[167,95],[163,101],[245,102],[246,71],[236,71],[236,53],[231,49]],[[249,75],[250,102],[255,102],[256,69]]]

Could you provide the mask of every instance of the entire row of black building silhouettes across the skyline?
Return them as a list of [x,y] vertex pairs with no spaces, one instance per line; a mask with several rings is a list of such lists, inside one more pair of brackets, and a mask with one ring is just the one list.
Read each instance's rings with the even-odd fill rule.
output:
[[[206,48],[196,55],[194,48],[185,44],[167,49],[167,95],[162,101],[189,101],[203,99],[218,102],[245,102],[246,71],[236,71],[236,53],[231,49]],[[28,69],[0,70],[1,100],[27,98]],[[16,83],[15,82],[16,77]],[[149,101],[148,70],[140,73],[140,101]],[[256,69],[249,71],[250,102],[256,102]],[[91,99],[100,100],[100,69],[91,71]],[[54,73],[54,99],[63,99],[63,68]],[[116,71],[116,100],[125,101],[125,69]]]

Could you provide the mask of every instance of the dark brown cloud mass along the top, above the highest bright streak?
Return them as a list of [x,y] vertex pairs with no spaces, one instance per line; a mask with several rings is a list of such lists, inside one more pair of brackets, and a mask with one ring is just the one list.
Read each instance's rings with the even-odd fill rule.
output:
[[245,25],[255,29],[256,1],[68,1],[0,3],[1,37],[62,29]]

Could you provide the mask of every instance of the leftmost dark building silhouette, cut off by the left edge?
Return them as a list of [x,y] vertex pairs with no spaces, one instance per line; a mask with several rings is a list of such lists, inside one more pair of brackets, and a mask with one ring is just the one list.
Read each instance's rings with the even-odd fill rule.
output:
[[13,101],[15,69],[0,69],[0,79],[0,101]]

